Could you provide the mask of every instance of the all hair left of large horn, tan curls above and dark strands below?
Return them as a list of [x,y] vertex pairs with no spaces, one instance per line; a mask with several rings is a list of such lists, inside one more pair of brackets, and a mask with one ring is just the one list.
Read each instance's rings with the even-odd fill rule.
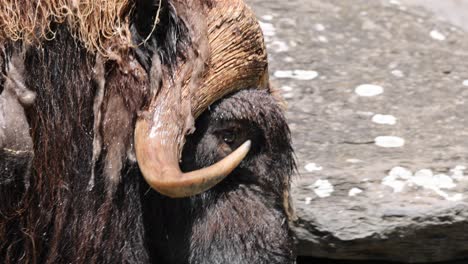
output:
[[0,175],[0,263],[154,261],[133,125],[158,78],[150,70],[203,71],[209,1],[135,2],[0,5],[0,92],[14,79],[35,93],[20,116],[32,152],[8,156],[15,173]]

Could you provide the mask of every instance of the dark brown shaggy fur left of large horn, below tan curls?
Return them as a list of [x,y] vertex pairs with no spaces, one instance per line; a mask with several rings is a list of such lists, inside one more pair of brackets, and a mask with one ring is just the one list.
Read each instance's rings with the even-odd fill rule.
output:
[[[162,14],[176,17],[173,9]],[[177,20],[152,36],[161,57],[188,47],[187,30],[179,28],[186,26]],[[127,152],[149,97],[147,73],[131,52],[121,63],[103,65],[65,25],[53,29],[54,39],[41,46],[11,43],[2,50],[2,96],[8,61],[20,56],[24,74],[10,77],[34,91],[36,100],[25,118],[18,116],[27,118],[30,131],[22,131],[34,142],[31,171],[32,155],[6,153],[3,146],[0,153],[0,263],[150,263],[140,197],[148,186]],[[163,61],[171,68],[177,59]],[[96,104],[99,92],[104,96]]]

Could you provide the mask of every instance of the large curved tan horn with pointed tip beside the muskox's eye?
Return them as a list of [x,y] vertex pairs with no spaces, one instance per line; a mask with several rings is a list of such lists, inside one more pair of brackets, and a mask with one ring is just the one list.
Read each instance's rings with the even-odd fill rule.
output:
[[[210,58],[201,83],[193,89],[189,78],[181,74],[178,81],[184,85],[178,90],[177,85],[169,87],[171,83],[163,80],[163,86],[151,100],[150,118],[140,117],[135,127],[140,170],[153,189],[170,197],[191,196],[213,187],[239,165],[250,149],[247,141],[210,167],[182,173],[179,157],[193,118],[228,93],[266,86],[263,35],[244,2],[214,0],[204,17]],[[185,72],[181,68],[179,72]]]

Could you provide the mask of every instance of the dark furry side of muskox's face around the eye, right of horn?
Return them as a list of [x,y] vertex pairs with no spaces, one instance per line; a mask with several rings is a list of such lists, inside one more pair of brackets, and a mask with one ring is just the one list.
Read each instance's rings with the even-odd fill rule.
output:
[[[145,220],[163,263],[294,263],[285,201],[294,160],[289,129],[267,91],[240,91],[212,106],[187,139],[186,170],[211,165],[245,140],[252,149],[226,180],[187,199],[151,192]],[[195,153],[195,155],[193,155]]]

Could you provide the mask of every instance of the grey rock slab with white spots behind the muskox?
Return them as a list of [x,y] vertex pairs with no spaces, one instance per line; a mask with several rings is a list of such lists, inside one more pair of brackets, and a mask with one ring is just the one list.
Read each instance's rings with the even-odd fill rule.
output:
[[[299,254],[468,257],[468,34],[396,1],[248,2],[289,103]],[[359,96],[362,84],[383,93]],[[396,123],[375,123],[375,114]],[[405,144],[379,147],[378,136]],[[320,197],[326,183],[333,192]],[[362,192],[350,196],[353,188]]]

